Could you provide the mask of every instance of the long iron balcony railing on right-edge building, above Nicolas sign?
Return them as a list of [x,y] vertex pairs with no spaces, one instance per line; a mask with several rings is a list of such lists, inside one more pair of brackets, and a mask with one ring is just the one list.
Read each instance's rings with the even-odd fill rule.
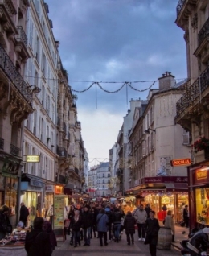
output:
[[209,87],[209,65],[199,78],[186,90],[186,93],[176,103],[176,117],[180,116],[182,112],[191,106],[191,103]]

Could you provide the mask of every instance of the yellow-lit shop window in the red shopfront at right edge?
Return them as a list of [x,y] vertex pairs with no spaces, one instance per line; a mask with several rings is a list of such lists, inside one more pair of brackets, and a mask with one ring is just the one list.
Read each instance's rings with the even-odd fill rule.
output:
[[196,221],[209,225],[209,188],[196,188]]

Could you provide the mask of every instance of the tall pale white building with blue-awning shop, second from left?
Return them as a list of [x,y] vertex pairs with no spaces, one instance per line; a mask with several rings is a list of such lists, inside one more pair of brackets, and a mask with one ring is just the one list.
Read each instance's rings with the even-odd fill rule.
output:
[[58,45],[48,12],[43,1],[31,1],[26,30],[30,59],[25,67],[25,81],[34,92],[34,111],[25,121],[23,159],[27,155],[39,155],[40,159],[39,163],[26,163],[22,170],[21,200],[28,208],[39,205],[39,211],[43,202],[47,208],[53,204],[53,195],[46,195],[45,186],[55,184]]

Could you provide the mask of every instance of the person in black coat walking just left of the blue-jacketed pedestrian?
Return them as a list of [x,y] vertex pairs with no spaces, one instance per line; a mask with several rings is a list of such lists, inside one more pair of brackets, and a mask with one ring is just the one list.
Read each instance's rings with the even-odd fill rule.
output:
[[91,229],[92,229],[92,213],[90,211],[90,206],[84,206],[84,213],[81,216],[83,221],[84,229],[84,246],[90,246],[91,239]]

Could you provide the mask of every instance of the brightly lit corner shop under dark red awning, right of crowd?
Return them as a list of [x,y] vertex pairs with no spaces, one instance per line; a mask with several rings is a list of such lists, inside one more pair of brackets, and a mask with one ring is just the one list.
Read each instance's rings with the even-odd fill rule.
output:
[[187,177],[160,176],[141,179],[141,187],[137,197],[140,204],[150,204],[151,209],[157,213],[159,221],[165,218],[162,206],[166,204],[167,210],[174,214],[174,221],[182,219],[182,203],[188,204]]

